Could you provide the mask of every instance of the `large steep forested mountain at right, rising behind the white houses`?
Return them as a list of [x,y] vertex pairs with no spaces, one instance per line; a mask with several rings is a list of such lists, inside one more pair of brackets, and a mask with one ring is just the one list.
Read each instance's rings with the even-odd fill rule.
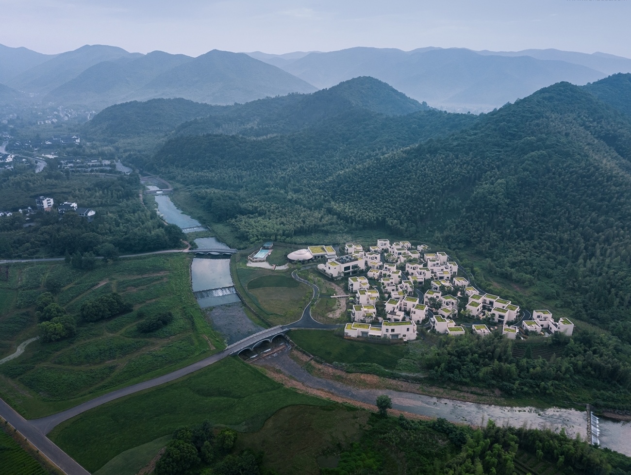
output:
[[[545,281],[543,296],[578,317],[628,320],[630,160],[630,120],[559,83],[455,136],[340,173],[330,186],[332,213],[346,223],[376,214],[411,236],[439,232],[512,281]],[[394,173],[367,173],[386,163]],[[367,177],[370,199],[357,177]],[[398,187],[400,177],[414,185]]]

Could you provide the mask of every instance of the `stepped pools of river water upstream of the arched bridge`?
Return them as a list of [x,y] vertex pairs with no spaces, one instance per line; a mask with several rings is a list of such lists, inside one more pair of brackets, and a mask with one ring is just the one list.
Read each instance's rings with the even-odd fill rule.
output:
[[[202,226],[198,220],[187,216],[175,207],[167,195],[156,195],[158,212],[167,223],[180,228]],[[197,238],[195,243],[199,248],[230,249],[230,247],[215,237]],[[230,276],[230,259],[225,255],[213,257],[195,257],[191,264],[191,280],[193,292],[201,308],[216,307],[227,303],[240,302]]]

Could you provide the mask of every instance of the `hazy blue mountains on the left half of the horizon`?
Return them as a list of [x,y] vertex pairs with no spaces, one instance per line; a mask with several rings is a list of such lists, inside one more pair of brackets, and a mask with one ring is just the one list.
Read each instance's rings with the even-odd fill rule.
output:
[[193,58],[86,45],[45,56],[1,47],[0,70],[7,86],[44,102],[96,109],[130,100],[175,97],[232,104],[316,90],[276,66],[243,53],[219,50]]

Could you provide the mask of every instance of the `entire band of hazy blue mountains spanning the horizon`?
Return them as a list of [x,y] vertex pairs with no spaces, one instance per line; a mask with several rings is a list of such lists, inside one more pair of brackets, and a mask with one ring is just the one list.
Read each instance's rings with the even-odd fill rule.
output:
[[282,55],[212,50],[193,58],[105,45],[57,55],[0,45],[1,84],[44,103],[97,110],[152,98],[229,105],[372,76],[435,108],[487,112],[559,81],[584,85],[627,72],[631,59],[560,50],[357,47]]

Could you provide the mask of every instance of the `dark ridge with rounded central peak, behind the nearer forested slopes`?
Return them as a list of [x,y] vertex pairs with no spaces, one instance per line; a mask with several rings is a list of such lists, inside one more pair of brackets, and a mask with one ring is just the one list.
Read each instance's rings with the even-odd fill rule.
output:
[[[134,135],[207,133],[264,136],[297,131],[350,110],[405,115],[429,110],[386,83],[355,78],[312,94],[290,94],[245,104],[212,106],[184,99],[128,102],[106,108],[88,122],[88,139],[112,141]],[[441,116],[437,114],[437,116]],[[471,119],[469,119],[471,120]]]

